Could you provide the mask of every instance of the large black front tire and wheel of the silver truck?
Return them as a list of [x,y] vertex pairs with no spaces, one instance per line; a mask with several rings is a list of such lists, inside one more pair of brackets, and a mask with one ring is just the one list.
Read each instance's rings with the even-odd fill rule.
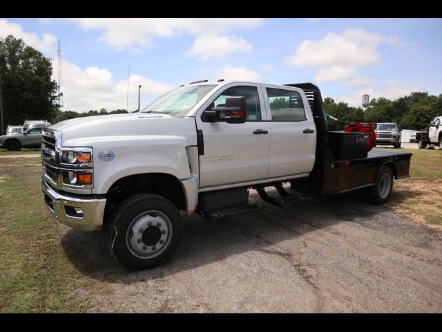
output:
[[153,268],[170,257],[182,237],[183,224],[171,201],[137,194],[113,213],[108,241],[115,258],[128,268]]

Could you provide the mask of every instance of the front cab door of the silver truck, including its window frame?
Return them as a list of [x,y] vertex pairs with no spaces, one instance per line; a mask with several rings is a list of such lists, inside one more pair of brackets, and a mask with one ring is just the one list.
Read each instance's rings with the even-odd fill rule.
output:
[[[202,113],[224,107],[229,97],[245,97],[244,123],[208,122]],[[195,116],[204,154],[200,155],[200,187],[258,181],[269,171],[270,134],[260,84],[227,84]]]

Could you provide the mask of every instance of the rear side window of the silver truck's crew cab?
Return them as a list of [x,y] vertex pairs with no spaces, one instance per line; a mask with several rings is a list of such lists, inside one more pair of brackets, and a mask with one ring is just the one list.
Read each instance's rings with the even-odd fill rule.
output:
[[276,121],[307,120],[304,105],[296,91],[266,88],[271,119]]

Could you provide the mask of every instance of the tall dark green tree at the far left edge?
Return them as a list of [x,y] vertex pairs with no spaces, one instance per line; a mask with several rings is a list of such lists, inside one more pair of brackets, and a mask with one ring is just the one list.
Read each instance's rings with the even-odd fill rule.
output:
[[5,124],[49,120],[58,105],[52,66],[38,50],[12,35],[0,39],[0,75]]

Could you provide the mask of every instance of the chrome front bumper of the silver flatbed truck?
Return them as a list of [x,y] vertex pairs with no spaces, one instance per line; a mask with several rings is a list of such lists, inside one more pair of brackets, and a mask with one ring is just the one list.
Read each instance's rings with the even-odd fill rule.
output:
[[60,223],[78,230],[100,230],[103,225],[106,199],[83,199],[79,196],[64,196],[53,190],[41,178],[46,207]]

